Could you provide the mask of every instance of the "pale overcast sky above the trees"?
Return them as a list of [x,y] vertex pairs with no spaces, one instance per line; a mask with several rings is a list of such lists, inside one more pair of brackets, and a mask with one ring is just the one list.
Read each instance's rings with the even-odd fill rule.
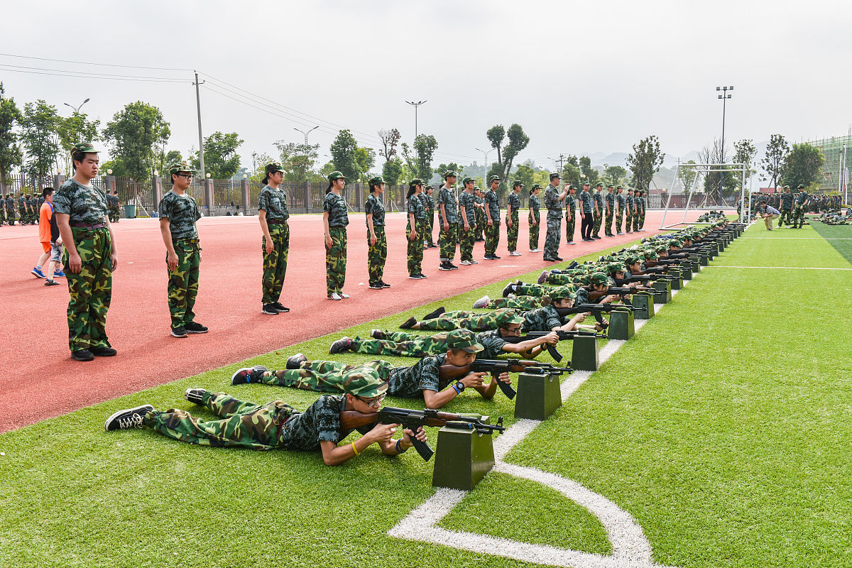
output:
[[[0,80],[19,106],[43,98],[70,113],[63,103],[89,97],[83,110],[103,124],[143,100],[171,123],[170,149],[186,154],[198,146],[198,70],[207,80],[204,135],[239,133],[248,164],[251,152],[302,141],[293,128],[316,124],[310,141],[320,154],[340,128],[361,146],[377,148],[378,129],[400,129],[411,142],[406,100],[428,100],[418,131],[437,138],[435,164],[481,164],[475,148],[487,149],[486,129],[496,123],[520,123],[531,141],[519,160],[542,166],[560,152],[629,152],[652,134],[669,157],[682,156],[721,135],[722,84],[734,85],[728,144],[774,133],[792,141],[843,135],[852,122],[847,3],[32,0],[3,3],[3,21],[3,54],[187,70],[0,55]],[[184,81],[37,75],[9,65]]]

